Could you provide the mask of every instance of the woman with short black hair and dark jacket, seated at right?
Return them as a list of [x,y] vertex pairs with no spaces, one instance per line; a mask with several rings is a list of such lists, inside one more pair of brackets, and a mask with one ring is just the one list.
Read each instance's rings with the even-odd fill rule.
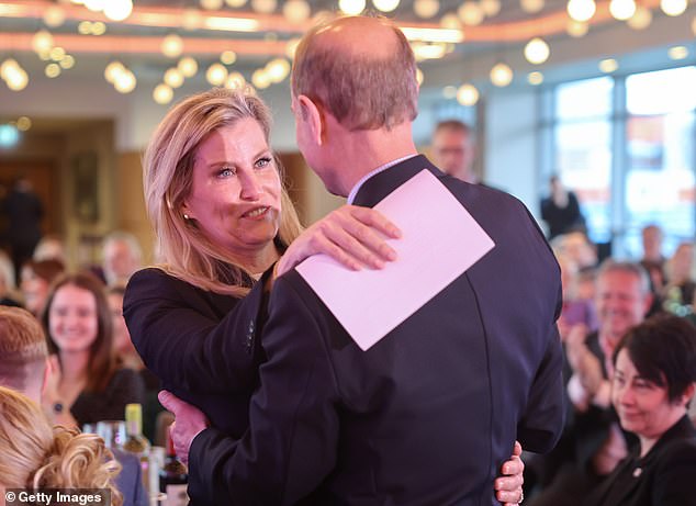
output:
[[611,401],[639,445],[585,506],[695,506],[696,431],[686,415],[696,382],[696,327],[655,316],[614,351]]

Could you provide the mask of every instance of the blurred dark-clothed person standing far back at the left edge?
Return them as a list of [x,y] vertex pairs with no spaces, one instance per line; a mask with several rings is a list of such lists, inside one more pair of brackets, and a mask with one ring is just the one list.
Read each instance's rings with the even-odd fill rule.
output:
[[32,258],[34,248],[41,239],[41,218],[44,206],[34,192],[32,182],[20,177],[1,203],[8,217],[7,239],[12,252],[14,270]]

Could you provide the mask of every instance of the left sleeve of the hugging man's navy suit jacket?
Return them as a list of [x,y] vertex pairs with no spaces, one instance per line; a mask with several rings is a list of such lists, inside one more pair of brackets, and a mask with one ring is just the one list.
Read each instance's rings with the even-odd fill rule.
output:
[[285,278],[273,286],[263,333],[268,361],[251,398],[249,430],[238,441],[216,429],[193,440],[194,504],[294,504],[335,465],[338,394],[322,321],[317,306],[307,307]]

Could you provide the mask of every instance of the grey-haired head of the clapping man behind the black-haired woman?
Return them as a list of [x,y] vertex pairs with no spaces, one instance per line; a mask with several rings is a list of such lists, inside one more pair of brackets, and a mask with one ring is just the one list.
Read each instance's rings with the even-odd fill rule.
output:
[[648,273],[640,265],[611,259],[602,263],[595,304],[599,336],[610,348],[644,319],[651,302]]

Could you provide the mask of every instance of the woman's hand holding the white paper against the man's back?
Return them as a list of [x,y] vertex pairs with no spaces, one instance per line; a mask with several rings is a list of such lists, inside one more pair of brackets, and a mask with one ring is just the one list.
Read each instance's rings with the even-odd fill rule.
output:
[[396,259],[385,238],[397,239],[401,230],[379,211],[344,205],[304,230],[278,261],[282,276],[312,255],[325,254],[349,269],[381,269]]

